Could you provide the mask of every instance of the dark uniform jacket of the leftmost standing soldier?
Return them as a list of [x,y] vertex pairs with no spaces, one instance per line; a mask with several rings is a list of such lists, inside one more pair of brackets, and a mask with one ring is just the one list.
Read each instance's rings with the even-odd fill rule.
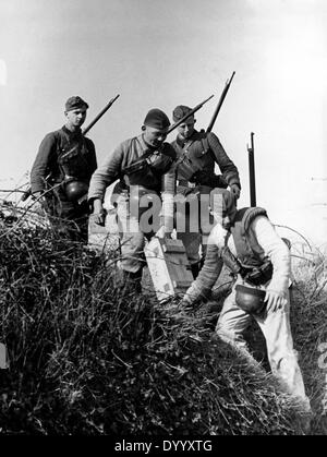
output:
[[89,182],[97,168],[94,143],[65,127],[48,133],[43,140],[31,171],[32,193],[59,183],[64,176]]

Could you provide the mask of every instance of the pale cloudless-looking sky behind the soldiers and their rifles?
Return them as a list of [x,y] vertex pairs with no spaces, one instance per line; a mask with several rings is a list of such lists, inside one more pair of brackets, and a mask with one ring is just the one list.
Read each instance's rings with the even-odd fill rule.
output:
[[[71,95],[89,104],[98,161],[140,133],[148,109],[232,85],[214,132],[239,167],[250,204],[246,144],[254,132],[257,204],[314,242],[327,228],[327,2],[324,0],[0,0],[3,188],[26,182],[45,134]],[[168,140],[173,140],[171,134]]]

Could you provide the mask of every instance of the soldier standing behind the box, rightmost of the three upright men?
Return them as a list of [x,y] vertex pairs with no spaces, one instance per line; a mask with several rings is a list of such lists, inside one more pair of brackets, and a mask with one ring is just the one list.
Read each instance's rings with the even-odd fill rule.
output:
[[[178,106],[172,112],[173,121],[179,121],[190,111],[187,106]],[[203,262],[207,238],[213,228],[207,217],[210,191],[229,187],[235,200],[241,191],[238,168],[226,154],[219,139],[211,132],[195,130],[195,122],[194,116],[190,116],[179,125],[178,136],[171,143],[178,155],[177,194],[186,197],[187,202],[184,214],[177,212],[177,237],[183,241],[194,277],[201,265],[199,246]],[[216,164],[221,175],[216,175]],[[194,201],[195,206],[192,203]],[[201,213],[205,217],[202,218]],[[181,224],[180,229],[181,218],[185,219],[185,225]]]

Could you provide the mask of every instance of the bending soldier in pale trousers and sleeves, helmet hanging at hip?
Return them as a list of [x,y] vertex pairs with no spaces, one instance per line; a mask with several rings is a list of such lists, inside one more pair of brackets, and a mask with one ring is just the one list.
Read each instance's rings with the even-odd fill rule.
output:
[[182,302],[192,304],[201,297],[207,297],[223,262],[232,265],[237,280],[225,300],[217,334],[247,353],[243,334],[253,316],[265,336],[272,373],[310,412],[290,328],[289,248],[276,232],[264,208],[238,209],[229,191],[219,190],[218,193],[220,218],[217,215],[218,224],[210,232],[204,266]]

